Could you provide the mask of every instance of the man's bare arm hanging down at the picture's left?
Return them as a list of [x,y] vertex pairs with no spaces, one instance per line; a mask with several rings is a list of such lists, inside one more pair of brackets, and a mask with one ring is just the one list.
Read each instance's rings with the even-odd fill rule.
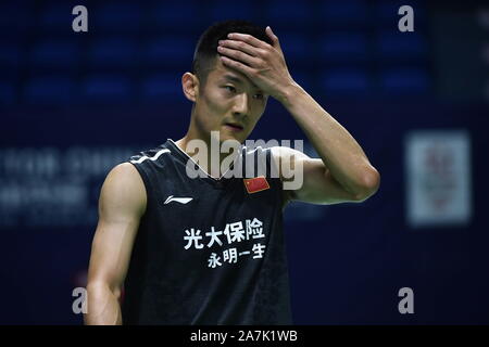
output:
[[120,164],[109,172],[100,192],[99,222],[91,245],[87,325],[123,322],[121,291],[146,201],[145,184],[131,164]]

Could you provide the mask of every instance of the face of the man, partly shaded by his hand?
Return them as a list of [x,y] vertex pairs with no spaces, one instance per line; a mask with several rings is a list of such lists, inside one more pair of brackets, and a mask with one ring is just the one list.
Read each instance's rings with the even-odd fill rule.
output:
[[204,133],[220,131],[220,140],[243,143],[265,111],[264,94],[242,73],[215,60],[196,101],[197,126]]

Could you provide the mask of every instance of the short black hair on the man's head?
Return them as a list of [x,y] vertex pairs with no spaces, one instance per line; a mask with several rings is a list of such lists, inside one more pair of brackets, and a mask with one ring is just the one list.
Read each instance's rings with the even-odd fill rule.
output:
[[192,74],[199,78],[202,86],[205,86],[209,72],[215,64],[218,54],[218,41],[227,39],[229,33],[249,34],[259,40],[273,44],[265,28],[249,21],[228,20],[212,24],[200,36],[193,53]]

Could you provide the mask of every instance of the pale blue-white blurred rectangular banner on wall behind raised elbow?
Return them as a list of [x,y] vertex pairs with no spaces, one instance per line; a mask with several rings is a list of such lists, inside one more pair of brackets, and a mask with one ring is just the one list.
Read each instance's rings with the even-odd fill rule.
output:
[[471,220],[471,138],[465,130],[413,131],[405,138],[406,218],[413,228]]

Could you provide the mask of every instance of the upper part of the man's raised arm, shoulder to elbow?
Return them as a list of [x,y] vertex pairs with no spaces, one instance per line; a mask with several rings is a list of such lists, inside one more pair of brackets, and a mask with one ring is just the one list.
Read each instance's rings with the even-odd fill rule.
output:
[[[271,147],[272,157],[284,182],[284,206],[290,201],[312,204],[360,202],[364,198],[347,191],[331,175],[322,159],[286,146]],[[289,184],[286,182],[296,181]]]

